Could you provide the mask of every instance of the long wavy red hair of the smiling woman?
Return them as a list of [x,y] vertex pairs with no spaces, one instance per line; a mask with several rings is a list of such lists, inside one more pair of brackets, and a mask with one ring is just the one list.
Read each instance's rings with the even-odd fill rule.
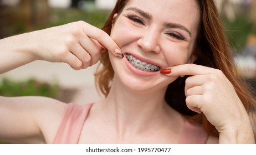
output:
[[[233,57],[231,54],[231,47],[228,43],[224,29],[222,27],[221,18],[219,17],[217,8],[212,0],[195,0],[201,9],[201,19],[199,20],[198,35],[194,45],[193,53],[197,55],[197,60],[194,64],[208,66],[211,68],[222,70],[224,75],[231,81],[237,95],[243,102],[247,110],[255,130],[255,109],[256,101],[252,95],[252,91],[246,84],[242,76],[240,76],[235,68]],[[112,18],[115,13],[121,13],[126,3],[129,0],[118,0],[115,8],[112,10],[107,19],[103,30],[110,34]],[[111,81],[114,77],[114,70],[112,69],[109,54],[107,52],[100,55],[100,66],[95,73],[95,81],[99,90],[105,95],[109,94],[111,89]],[[211,136],[219,136],[216,128],[206,119],[206,116],[195,113],[187,108],[185,96],[185,80],[188,76],[179,77],[168,85],[165,100],[178,112],[185,115],[190,121],[194,123],[202,123],[204,130]],[[256,134],[254,131],[254,138]]]

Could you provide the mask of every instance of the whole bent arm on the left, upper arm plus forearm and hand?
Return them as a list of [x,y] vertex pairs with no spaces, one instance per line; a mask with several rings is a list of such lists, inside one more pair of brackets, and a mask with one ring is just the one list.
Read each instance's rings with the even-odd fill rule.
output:
[[[99,60],[101,44],[117,56],[119,46],[85,22],[37,30],[0,40],[0,74],[35,60],[85,69]],[[52,143],[66,104],[46,97],[0,96],[0,141]]]

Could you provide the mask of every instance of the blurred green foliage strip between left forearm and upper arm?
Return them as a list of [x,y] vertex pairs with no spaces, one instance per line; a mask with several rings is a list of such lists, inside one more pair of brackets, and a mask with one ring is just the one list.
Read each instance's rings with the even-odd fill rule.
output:
[[45,96],[56,98],[58,91],[59,86],[57,84],[39,82],[35,79],[14,81],[4,78],[0,82],[1,96]]

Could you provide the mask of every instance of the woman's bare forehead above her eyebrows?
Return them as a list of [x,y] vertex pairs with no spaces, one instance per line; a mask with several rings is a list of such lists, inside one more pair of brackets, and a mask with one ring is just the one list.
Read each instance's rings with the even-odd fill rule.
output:
[[199,6],[196,0],[130,0],[123,11],[137,8],[160,23],[178,23],[196,31],[199,23]]

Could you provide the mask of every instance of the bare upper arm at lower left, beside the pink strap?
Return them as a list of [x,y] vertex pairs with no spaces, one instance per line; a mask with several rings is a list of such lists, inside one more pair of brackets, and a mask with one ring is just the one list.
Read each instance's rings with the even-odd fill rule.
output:
[[0,141],[52,143],[65,107],[47,97],[0,96]]

